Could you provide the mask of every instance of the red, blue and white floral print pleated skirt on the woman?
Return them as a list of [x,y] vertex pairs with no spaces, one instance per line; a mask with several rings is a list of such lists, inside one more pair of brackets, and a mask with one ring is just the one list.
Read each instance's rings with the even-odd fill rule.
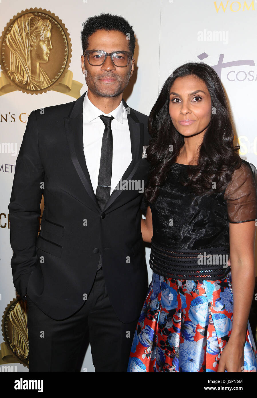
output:
[[[153,273],[127,372],[216,372],[232,319],[231,271],[216,281],[177,280]],[[242,371],[256,372],[256,367],[248,322]]]

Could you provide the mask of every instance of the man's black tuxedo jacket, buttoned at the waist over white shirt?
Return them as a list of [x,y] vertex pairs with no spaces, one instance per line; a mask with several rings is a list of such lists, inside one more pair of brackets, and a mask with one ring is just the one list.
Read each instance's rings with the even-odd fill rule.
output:
[[[87,299],[101,254],[107,293],[118,318],[138,318],[148,288],[141,234],[142,193],[114,190],[100,210],[83,151],[78,100],[29,115],[9,204],[16,291],[53,319],[76,312]],[[128,108],[123,100],[123,105]],[[149,163],[148,117],[128,113],[132,162],[122,180],[144,180]],[[38,235],[40,203],[45,209]]]

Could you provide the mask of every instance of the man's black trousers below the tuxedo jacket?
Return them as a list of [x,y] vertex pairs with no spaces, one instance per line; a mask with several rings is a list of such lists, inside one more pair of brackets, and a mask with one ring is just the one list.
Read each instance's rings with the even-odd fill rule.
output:
[[27,307],[29,372],[80,372],[89,342],[95,372],[127,371],[138,320],[124,324],[117,318],[102,268],[96,273],[88,300],[72,316],[49,318],[28,295]]

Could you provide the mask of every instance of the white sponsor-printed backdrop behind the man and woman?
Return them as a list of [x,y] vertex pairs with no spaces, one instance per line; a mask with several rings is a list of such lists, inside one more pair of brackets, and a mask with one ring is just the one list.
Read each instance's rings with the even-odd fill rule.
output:
[[[149,115],[162,84],[177,66],[188,61],[203,61],[214,67],[230,100],[241,156],[257,166],[256,0],[0,0],[1,31],[13,16],[31,7],[41,7],[55,13],[68,29],[72,43],[69,69],[73,72],[73,79],[83,84],[81,95],[87,90],[80,61],[82,22],[101,12],[123,16],[135,31],[136,67],[124,98],[128,106],[142,113]],[[0,121],[0,141],[16,143],[18,154],[25,131],[24,122],[33,109],[74,100],[55,91],[41,95],[14,91],[1,95],[0,113],[5,118],[7,115],[7,121],[3,118]],[[23,122],[19,119],[21,113]],[[15,121],[11,115],[15,115]],[[14,166],[11,165],[16,163],[17,154],[0,153],[0,314],[15,297],[10,267],[12,249],[8,204],[14,177]],[[146,248],[150,281],[152,271],[149,268],[149,256],[150,249]],[[1,336],[0,343],[2,341]],[[28,369],[17,364],[17,371],[27,372]],[[94,371],[90,349],[84,359],[83,371]]]

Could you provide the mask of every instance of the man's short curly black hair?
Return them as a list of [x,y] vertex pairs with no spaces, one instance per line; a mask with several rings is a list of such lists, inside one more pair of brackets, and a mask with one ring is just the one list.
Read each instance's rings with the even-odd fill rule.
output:
[[128,21],[120,15],[104,14],[95,15],[82,23],[83,29],[81,31],[81,43],[82,51],[85,55],[85,51],[88,48],[88,38],[99,29],[107,31],[117,30],[127,35],[129,33],[130,40],[128,40],[128,48],[131,51],[132,56],[134,55],[134,49],[136,45],[136,39],[134,37],[134,31],[132,26],[129,25]]

